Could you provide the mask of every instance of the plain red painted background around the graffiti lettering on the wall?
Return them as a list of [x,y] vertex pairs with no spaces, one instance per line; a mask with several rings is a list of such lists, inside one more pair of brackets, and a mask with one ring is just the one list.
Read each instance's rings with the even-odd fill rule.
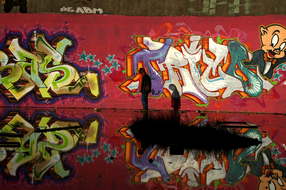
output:
[[[196,34],[202,37],[217,37],[221,39],[239,40],[248,47],[249,52],[260,49],[259,26],[270,24],[286,25],[284,16],[268,15],[263,17],[127,17],[113,15],[55,15],[55,14],[3,14],[1,46],[12,36],[25,38],[23,48],[31,51],[28,46],[33,32],[43,34],[48,43],[55,37],[65,35],[72,39],[73,45],[66,47],[61,63],[72,65],[79,73],[90,71],[98,74],[100,95],[97,98],[87,96],[82,89],[80,94],[51,95],[51,98],[38,98],[35,90],[31,90],[21,99],[11,101],[2,94],[1,106],[15,107],[90,107],[141,109],[140,93],[123,92],[118,85],[126,79],[126,55],[137,45],[134,35],[152,36],[154,41],[160,37],[172,38],[174,42],[182,42],[185,34]],[[133,38],[132,38],[133,36]],[[77,44],[78,43],[78,44]],[[72,51],[72,55],[67,52]],[[5,51],[4,51],[5,52]],[[83,52],[86,55],[96,55],[94,61],[80,60]],[[71,61],[65,61],[64,56],[73,56]],[[109,61],[109,56],[113,60]],[[94,62],[98,60],[99,69]],[[112,67],[117,60],[117,67]],[[110,68],[110,72],[103,69]],[[284,113],[285,76],[279,80],[267,93],[258,97],[242,98],[233,93],[227,98],[209,97],[208,103],[196,104],[190,98],[181,96],[181,109],[206,109],[212,111],[250,111],[267,113]],[[171,98],[150,97],[150,109],[172,109]],[[201,107],[202,106],[202,107]]]

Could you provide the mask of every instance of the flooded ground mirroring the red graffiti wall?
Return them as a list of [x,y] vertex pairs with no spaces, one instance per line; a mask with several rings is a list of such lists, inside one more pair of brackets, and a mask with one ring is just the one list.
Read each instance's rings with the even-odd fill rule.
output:
[[[158,110],[146,115],[127,109],[7,107],[0,112],[0,186],[4,189],[279,189],[286,183],[283,114]],[[176,123],[150,121],[146,139],[166,137],[170,146],[142,148],[129,126],[134,118],[161,115],[176,115],[189,128],[178,133]],[[261,143],[206,151],[222,139],[228,145],[239,143],[192,130],[215,121],[250,122],[257,129],[244,124],[228,130]],[[176,151],[182,148],[181,141],[176,142],[182,138],[183,143],[200,148]]]

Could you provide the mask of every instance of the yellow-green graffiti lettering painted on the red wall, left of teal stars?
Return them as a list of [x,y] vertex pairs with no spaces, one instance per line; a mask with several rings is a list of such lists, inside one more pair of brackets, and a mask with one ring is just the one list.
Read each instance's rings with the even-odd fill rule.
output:
[[51,95],[75,94],[82,88],[93,98],[99,95],[98,75],[78,71],[61,60],[71,40],[58,37],[49,45],[41,34],[33,34],[29,42],[32,53],[19,45],[18,37],[8,39],[4,49],[10,57],[0,51],[0,88],[11,101],[18,101],[33,89],[38,98]]

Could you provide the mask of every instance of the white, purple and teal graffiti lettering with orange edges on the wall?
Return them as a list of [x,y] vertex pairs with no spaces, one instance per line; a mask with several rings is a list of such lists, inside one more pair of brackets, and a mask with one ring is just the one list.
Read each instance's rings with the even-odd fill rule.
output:
[[219,44],[200,35],[185,35],[183,39],[184,43],[173,47],[171,38],[153,41],[137,37],[140,48],[126,55],[126,76],[130,79],[119,88],[138,92],[136,69],[140,67],[145,67],[151,77],[151,96],[172,97],[169,85],[174,84],[180,96],[198,104],[207,104],[209,97],[224,99],[234,92],[241,97],[257,97],[273,87],[261,77],[257,66],[243,65],[242,60],[251,59],[251,53],[241,43],[224,40]]

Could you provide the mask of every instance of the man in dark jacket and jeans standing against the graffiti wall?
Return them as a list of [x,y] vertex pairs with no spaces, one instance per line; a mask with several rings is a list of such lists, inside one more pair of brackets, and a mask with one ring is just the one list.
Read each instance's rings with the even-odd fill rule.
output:
[[148,95],[151,92],[151,78],[147,75],[144,68],[139,69],[140,78],[139,78],[139,90],[142,93],[141,101],[143,105],[143,110],[148,111]]

